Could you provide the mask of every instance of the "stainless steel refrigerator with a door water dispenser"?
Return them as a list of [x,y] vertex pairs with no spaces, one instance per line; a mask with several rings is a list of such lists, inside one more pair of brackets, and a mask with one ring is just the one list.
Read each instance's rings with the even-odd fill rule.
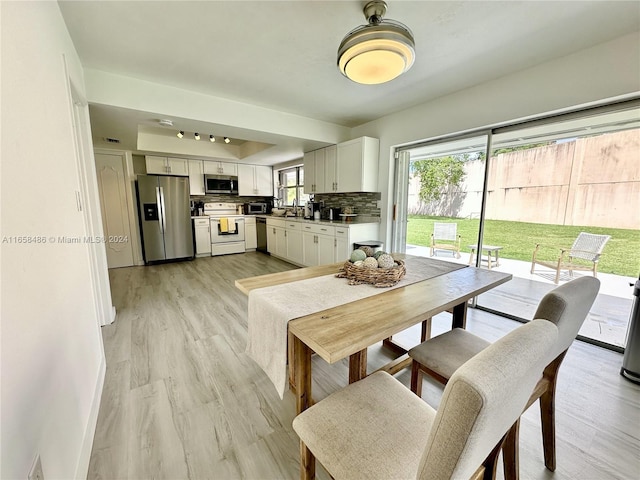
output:
[[138,175],[138,208],[145,263],[193,258],[188,177]]

